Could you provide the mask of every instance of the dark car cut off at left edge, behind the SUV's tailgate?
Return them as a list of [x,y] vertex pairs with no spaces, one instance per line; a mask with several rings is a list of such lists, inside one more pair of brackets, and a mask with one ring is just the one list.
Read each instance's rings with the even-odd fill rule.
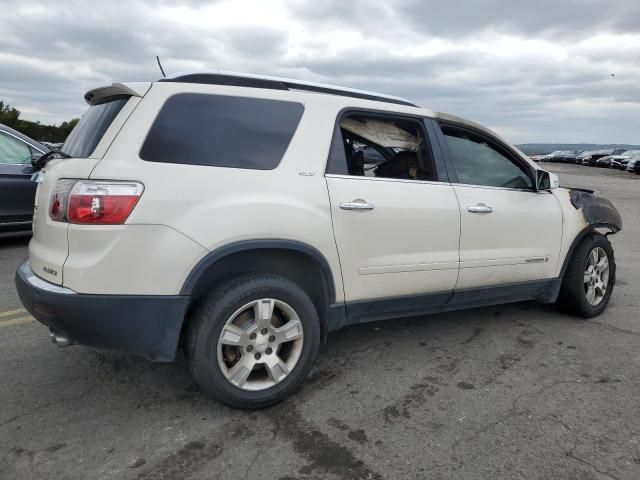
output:
[[0,231],[29,230],[33,220],[36,171],[32,161],[49,152],[39,142],[0,124]]

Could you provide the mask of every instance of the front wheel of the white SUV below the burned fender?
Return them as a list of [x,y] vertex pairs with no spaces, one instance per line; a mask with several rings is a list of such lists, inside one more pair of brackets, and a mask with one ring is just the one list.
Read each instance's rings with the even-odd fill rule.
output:
[[600,315],[609,304],[616,277],[616,263],[609,240],[598,232],[576,247],[562,281],[557,305],[584,318]]

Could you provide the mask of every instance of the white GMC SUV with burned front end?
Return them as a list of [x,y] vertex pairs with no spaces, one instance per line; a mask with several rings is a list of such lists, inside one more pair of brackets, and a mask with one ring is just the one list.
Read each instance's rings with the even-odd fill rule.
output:
[[[620,215],[486,128],[371,92],[231,73],[98,88],[39,182],[16,283],[61,345],[259,408],[327,332],[535,299],[585,317]],[[365,151],[367,156],[365,157]],[[372,153],[375,152],[375,153]]]

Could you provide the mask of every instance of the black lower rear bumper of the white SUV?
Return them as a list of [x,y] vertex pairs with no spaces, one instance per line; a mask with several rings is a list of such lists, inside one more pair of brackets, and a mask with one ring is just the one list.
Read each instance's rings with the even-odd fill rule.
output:
[[16,287],[27,311],[54,332],[160,362],[174,359],[189,304],[181,295],[76,293],[37,277],[29,262],[18,268]]

